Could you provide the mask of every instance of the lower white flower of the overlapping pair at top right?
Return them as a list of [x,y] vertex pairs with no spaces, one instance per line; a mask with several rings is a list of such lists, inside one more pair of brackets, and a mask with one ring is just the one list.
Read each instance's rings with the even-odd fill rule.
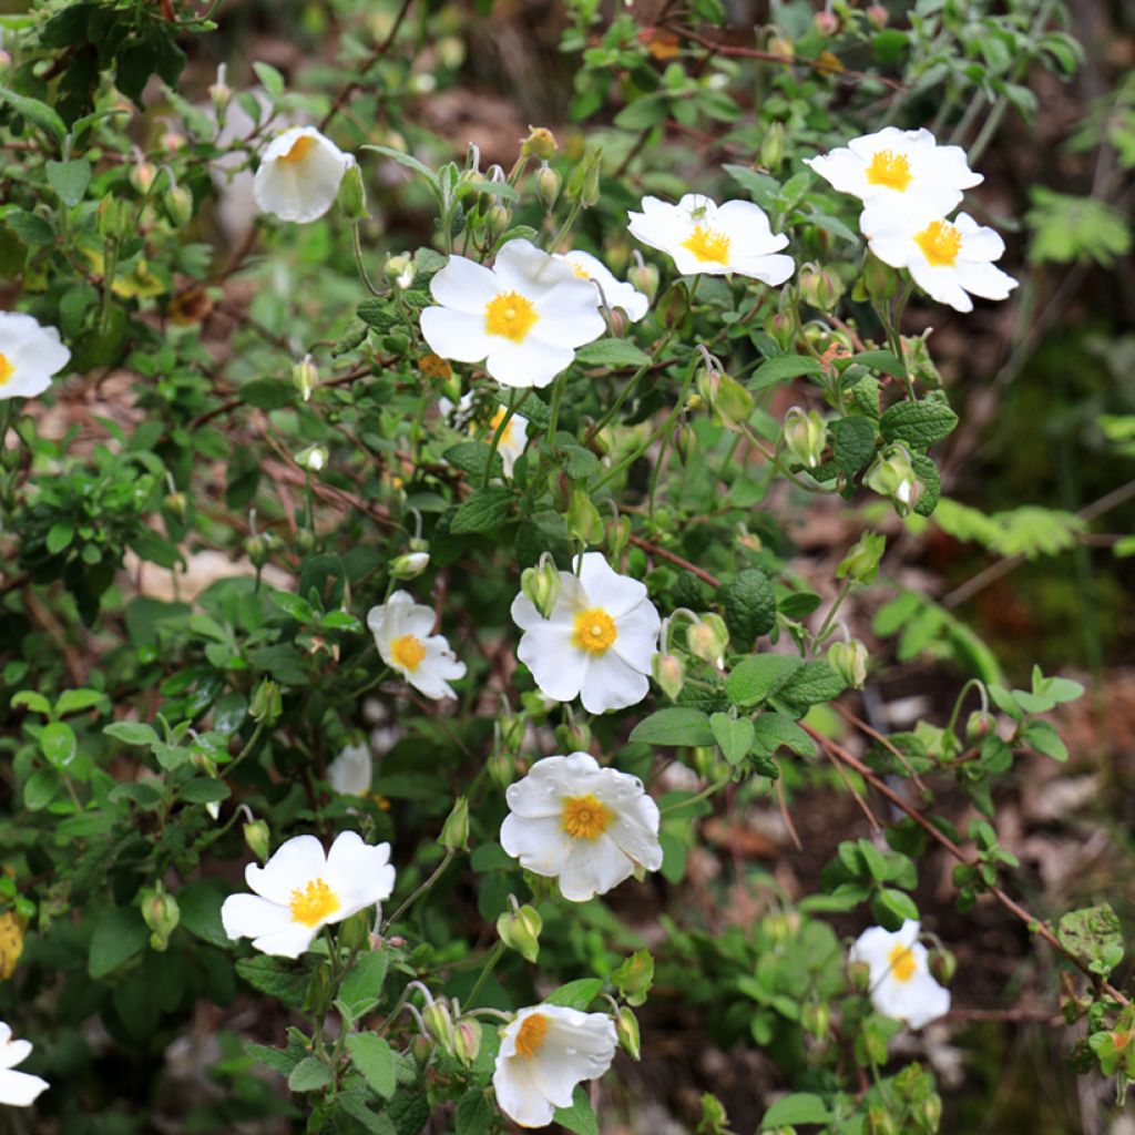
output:
[[1004,300],[1017,286],[993,264],[1004,252],[1004,242],[969,213],[949,221],[927,211],[893,210],[868,243],[880,260],[906,268],[927,295],[956,311],[974,310],[967,293]]

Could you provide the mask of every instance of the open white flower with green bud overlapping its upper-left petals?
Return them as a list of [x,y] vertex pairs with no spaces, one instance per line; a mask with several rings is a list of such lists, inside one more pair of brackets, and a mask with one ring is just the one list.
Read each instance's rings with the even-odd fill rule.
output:
[[536,684],[557,701],[579,695],[588,713],[641,701],[662,627],[646,586],[620,575],[599,552],[583,555],[578,575],[560,572],[560,582],[550,619],[524,595],[512,603],[513,622],[524,632],[516,655]]

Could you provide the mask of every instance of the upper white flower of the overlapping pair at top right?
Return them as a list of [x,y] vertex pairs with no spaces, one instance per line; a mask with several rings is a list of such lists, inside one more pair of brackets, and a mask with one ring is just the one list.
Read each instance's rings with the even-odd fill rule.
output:
[[868,235],[896,205],[916,203],[941,217],[958,204],[962,190],[984,180],[969,168],[961,146],[939,145],[926,129],[896,126],[804,161],[841,193],[865,202],[859,227]]

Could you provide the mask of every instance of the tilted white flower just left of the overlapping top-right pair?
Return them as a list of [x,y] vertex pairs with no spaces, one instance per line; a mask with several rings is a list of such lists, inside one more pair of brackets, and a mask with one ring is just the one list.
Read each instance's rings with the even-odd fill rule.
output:
[[765,211],[750,201],[723,205],[700,193],[687,193],[676,205],[644,197],[642,212],[630,215],[631,235],[673,257],[683,276],[737,272],[773,286],[796,269],[791,257],[774,255],[788,244],[773,235]]

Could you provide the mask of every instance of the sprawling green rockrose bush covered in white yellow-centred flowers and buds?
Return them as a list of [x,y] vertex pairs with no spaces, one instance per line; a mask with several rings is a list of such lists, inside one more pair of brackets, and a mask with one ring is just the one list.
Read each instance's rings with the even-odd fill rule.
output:
[[5,1129],[973,1129],[991,924],[1121,1100],[1119,918],[1002,846],[1083,687],[909,568],[1067,14],[573,0],[502,141],[494,7],[0,17]]

